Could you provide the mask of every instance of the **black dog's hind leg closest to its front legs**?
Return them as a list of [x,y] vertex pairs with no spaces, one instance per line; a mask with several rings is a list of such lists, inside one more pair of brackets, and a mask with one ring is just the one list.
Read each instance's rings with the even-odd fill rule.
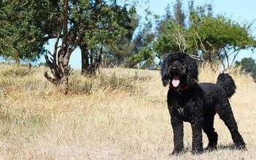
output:
[[206,150],[216,149],[218,143],[217,132],[214,132],[214,114],[203,117],[203,132],[208,137],[208,146]]

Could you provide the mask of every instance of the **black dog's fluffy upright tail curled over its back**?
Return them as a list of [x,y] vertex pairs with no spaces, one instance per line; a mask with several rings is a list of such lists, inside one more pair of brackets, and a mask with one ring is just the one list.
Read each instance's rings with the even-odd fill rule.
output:
[[227,73],[220,73],[217,79],[217,84],[225,89],[227,97],[231,97],[236,92],[236,84],[232,77]]

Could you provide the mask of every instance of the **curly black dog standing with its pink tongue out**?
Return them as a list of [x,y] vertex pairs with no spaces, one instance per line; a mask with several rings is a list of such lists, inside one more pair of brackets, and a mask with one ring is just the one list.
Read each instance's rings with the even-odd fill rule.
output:
[[197,84],[198,68],[195,60],[184,52],[173,52],[164,60],[161,76],[164,86],[170,81],[167,105],[173,127],[173,154],[184,149],[183,121],[188,121],[192,126],[192,153],[203,151],[202,129],[209,141],[206,149],[217,148],[218,135],[214,132],[216,113],[230,130],[236,147],[245,148],[228,100],[236,90],[230,75],[219,74],[217,84]]

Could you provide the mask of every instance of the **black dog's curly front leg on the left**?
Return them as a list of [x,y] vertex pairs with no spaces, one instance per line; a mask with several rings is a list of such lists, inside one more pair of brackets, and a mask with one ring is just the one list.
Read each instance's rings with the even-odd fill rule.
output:
[[172,127],[173,127],[173,142],[174,142],[174,149],[172,154],[181,153],[184,149],[183,143],[183,121],[179,119],[177,116],[173,116],[170,119]]

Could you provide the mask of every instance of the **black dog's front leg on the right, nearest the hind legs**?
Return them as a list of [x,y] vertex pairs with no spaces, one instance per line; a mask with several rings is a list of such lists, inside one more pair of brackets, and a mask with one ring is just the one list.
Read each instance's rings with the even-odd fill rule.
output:
[[203,151],[203,117],[196,117],[191,121],[192,126],[192,153],[201,153]]

